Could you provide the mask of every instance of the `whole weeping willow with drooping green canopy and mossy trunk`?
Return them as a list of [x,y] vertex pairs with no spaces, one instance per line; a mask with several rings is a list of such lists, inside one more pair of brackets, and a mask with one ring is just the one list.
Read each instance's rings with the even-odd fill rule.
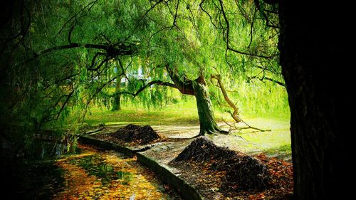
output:
[[[224,132],[211,106],[211,95],[229,99],[222,83],[233,86],[236,76],[279,78],[275,33],[263,29],[256,6],[245,3],[234,16],[222,12],[219,1],[15,1],[1,32],[1,90],[8,94],[1,99],[1,121],[13,119],[36,132],[64,122],[73,107],[83,120],[90,102],[110,107],[116,100],[118,108],[122,95],[159,106],[166,86],[195,96],[199,135]],[[230,18],[236,23],[227,23]],[[237,48],[248,53],[231,55]],[[224,77],[219,88],[211,81],[216,77]],[[129,84],[119,90],[121,78]],[[232,109],[238,116],[236,105]]]

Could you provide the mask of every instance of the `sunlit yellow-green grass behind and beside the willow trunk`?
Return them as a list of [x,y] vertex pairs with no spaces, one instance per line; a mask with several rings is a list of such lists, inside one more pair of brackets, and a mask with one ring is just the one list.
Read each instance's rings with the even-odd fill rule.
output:
[[[226,112],[215,111],[216,121],[219,125],[224,125],[221,119],[231,121],[231,117]],[[248,113],[241,117],[251,126],[258,127],[269,132],[256,132],[256,130],[241,130],[232,132],[229,137],[211,138],[231,149],[238,149],[246,153],[265,152],[269,155],[280,157],[290,157],[290,118],[286,114]],[[122,105],[122,110],[111,111],[105,107],[92,107],[90,115],[86,115],[85,123],[88,125],[152,125],[152,126],[179,126],[194,129],[197,132],[199,118],[197,107],[194,101],[179,102],[177,104],[167,105],[160,110],[147,110],[140,106],[132,104]],[[241,125],[242,126],[242,125]],[[199,128],[199,127],[198,127]],[[225,126],[226,128],[226,126]],[[236,136],[243,140],[234,140]]]

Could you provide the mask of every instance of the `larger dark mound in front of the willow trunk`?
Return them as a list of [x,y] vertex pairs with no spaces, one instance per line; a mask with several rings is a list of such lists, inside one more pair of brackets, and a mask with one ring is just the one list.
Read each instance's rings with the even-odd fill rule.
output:
[[209,163],[211,170],[226,172],[225,184],[236,184],[239,189],[265,189],[271,181],[266,165],[258,159],[217,147],[206,137],[198,137],[172,162],[182,161]]

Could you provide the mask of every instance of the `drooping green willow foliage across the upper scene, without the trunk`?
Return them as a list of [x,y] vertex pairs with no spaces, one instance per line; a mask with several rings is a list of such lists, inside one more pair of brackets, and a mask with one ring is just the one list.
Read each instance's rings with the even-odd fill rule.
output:
[[[224,108],[217,102],[224,99],[209,80],[216,73],[224,77],[229,90],[236,91],[229,95],[241,113],[288,113],[283,87],[263,79],[283,83],[276,48],[278,31],[266,26],[266,17],[273,22],[278,19],[258,11],[252,1],[224,1],[223,16],[218,3],[26,1],[26,14],[14,17],[13,25],[6,26],[7,32],[1,38],[1,72],[6,78],[1,80],[0,92],[6,95],[1,97],[0,120],[9,126],[25,127],[22,139],[31,146],[33,132],[42,127],[80,126],[84,116],[91,114],[90,107],[110,109],[119,75],[130,79],[127,87],[122,88],[126,93],[135,93],[152,80],[172,83],[164,68],[167,63],[190,79],[204,70],[214,106],[221,112]],[[26,30],[23,36],[18,34],[21,28]],[[71,43],[82,46],[63,48]],[[138,51],[107,57],[109,51],[84,48],[84,44],[108,48],[134,44]],[[228,45],[255,56],[234,53],[227,49]],[[62,48],[54,51],[54,47]],[[148,110],[159,110],[172,103],[179,106],[187,101],[194,105],[191,98],[160,85],[146,88],[135,98],[122,94],[121,100],[124,107]],[[73,126],[72,131],[76,132],[78,126]],[[69,152],[75,146],[76,136],[63,134],[63,138],[70,138]]]

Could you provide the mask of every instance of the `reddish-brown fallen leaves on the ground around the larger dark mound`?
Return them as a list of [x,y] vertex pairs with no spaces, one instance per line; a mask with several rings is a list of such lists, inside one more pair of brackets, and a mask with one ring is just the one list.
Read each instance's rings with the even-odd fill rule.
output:
[[179,168],[180,176],[199,189],[199,193],[206,199],[289,199],[293,194],[292,164],[266,157],[265,154],[258,154],[254,157],[265,164],[268,172],[271,173],[271,186],[268,189],[241,190],[239,184],[227,181],[226,171],[211,169],[212,164],[216,162],[214,159],[210,162],[194,162],[193,160],[174,162],[172,165]]

